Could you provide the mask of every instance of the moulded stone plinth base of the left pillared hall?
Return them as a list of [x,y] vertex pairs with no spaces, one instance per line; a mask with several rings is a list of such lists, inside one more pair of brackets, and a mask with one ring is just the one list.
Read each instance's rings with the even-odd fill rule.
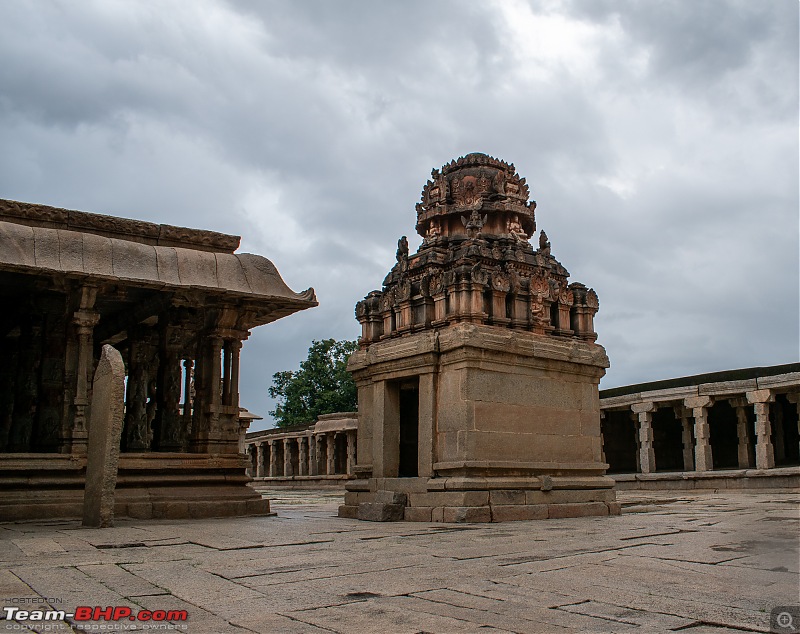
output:
[[[114,515],[189,519],[270,515],[269,500],[247,486],[240,456],[121,454]],[[0,521],[75,519],[83,510],[86,458],[0,456]]]

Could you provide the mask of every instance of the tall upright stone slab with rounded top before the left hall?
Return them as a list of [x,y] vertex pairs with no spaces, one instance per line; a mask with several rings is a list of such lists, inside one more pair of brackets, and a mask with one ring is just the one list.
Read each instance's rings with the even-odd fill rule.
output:
[[125,402],[125,365],[119,351],[103,346],[94,373],[83,525],[104,528],[114,524],[119,444]]

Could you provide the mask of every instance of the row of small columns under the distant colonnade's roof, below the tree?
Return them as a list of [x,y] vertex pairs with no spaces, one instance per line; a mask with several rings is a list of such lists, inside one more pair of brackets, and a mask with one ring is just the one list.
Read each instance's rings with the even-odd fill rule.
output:
[[[346,439],[345,455],[337,448]],[[325,432],[255,441],[253,476],[352,475],[356,464],[356,431]],[[342,468],[343,467],[343,468]]]

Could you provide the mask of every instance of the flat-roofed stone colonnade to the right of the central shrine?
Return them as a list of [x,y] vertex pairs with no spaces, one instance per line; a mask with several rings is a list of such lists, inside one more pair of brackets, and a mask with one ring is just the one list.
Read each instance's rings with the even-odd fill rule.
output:
[[[795,366],[601,391],[603,452],[609,472],[800,465],[800,366]],[[752,376],[725,380],[743,374]],[[678,382],[684,385],[669,387]]]

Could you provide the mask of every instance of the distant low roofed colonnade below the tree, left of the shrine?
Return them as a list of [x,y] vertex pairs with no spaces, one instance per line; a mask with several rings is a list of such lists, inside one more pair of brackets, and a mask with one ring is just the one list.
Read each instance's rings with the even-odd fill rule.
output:
[[247,435],[254,478],[352,476],[356,464],[355,412],[320,416],[303,429],[270,429]]

